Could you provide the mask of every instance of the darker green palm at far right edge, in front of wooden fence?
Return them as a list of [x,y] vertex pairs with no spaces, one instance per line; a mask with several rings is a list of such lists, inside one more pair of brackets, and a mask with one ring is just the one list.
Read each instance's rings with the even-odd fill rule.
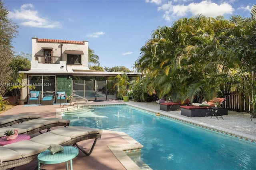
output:
[[226,32],[226,40],[220,53],[231,56],[234,62],[233,79],[240,90],[249,96],[252,104],[252,117],[256,118],[256,5],[250,11],[250,18],[234,15],[230,18],[230,25],[222,26]]

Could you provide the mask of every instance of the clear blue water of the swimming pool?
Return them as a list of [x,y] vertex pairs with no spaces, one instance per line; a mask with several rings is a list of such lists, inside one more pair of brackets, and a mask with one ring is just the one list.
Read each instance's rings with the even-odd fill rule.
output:
[[64,113],[72,126],[125,132],[154,170],[256,170],[256,145],[121,105]]

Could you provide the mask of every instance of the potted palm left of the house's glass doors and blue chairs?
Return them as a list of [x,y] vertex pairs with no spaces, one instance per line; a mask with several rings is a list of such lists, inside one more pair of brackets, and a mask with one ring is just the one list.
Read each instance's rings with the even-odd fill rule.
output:
[[10,87],[10,90],[12,90],[12,89],[18,89],[19,90],[19,96],[20,96],[20,99],[18,99],[18,104],[19,105],[24,105],[25,100],[22,99],[22,90],[24,88],[29,88],[30,90],[35,89],[34,86],[24,83],[24,73],[19,73],[18,76],[17,76],[17,79],[16,79],[16,83],[14,83],[14,85]]

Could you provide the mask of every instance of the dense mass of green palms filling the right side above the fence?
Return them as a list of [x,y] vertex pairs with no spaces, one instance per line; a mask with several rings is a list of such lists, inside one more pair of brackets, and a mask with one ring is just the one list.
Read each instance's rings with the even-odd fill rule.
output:
[[[141,47],[136,69],[150,79],[145,92],[172,101],[209,101],[223,95],[224,86],[256,94],[256,6],[251,17],[203,15],[181,18],[158,27]],[[255,110],[256,106],[252,106]]]

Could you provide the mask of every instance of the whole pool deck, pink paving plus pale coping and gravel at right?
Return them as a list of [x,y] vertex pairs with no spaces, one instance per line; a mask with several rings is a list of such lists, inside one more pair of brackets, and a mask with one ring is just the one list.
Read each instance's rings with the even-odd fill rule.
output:
[[[250,119],[250,114],[248,113],[238,113],[228,111],[228,115],[224,115],[222,119],[216,119],[215,117],[186,117],[180,115],[180,111],[165,112],[160,110],[160,106],[157,103],[142,103],[142,102],[122,102],[122,101],[102,101],[102,102],[88,102],[87,105],[106,105],[106,104],[120,104],[126,103],[132,107],[138,107],[140,109],[147,109],[152,112],[159,112],[161,116],[171,117],[179,121],[190,123],[198,127],[207,128],[216,132],[220,132],[235,138],[240,138],[241,140],[248,140],[249,142],[256,141],[256,119]],[[46,105],[46,106],[30,106],[24,107],[24,105],[17,105],[14,108],[2,113],[0,116],[4,115],[15,115],[15,114],[35,114],[41,115],[41,117],[59,117],[58,111],[60,105]],[[38,133],[39,134],[39,133]],[[38,134],[34,134],[36,136]],[[85,140],[79,142],[80,146],[86,148],[90,146],[93,140]],[[78,156],[73,159],[73,169],[74,170],[137,170],[140,169],[123,150],[132,150],[134,147],[138,147],[140,144],[130,138],[127,134],[123,132],[111,132],[104,130],[102,133],[102,138],[98,139],[96,146],[90,156],[84,156],[80,151]],[[34,170],[36,169],[37,162],[31,162],[23,166],[16,167],[15,170]],[[41,167],[44,170],[60,170],[65,169],[65,163],[43,165]],[[150,169],[144,166],[143,169]]]

